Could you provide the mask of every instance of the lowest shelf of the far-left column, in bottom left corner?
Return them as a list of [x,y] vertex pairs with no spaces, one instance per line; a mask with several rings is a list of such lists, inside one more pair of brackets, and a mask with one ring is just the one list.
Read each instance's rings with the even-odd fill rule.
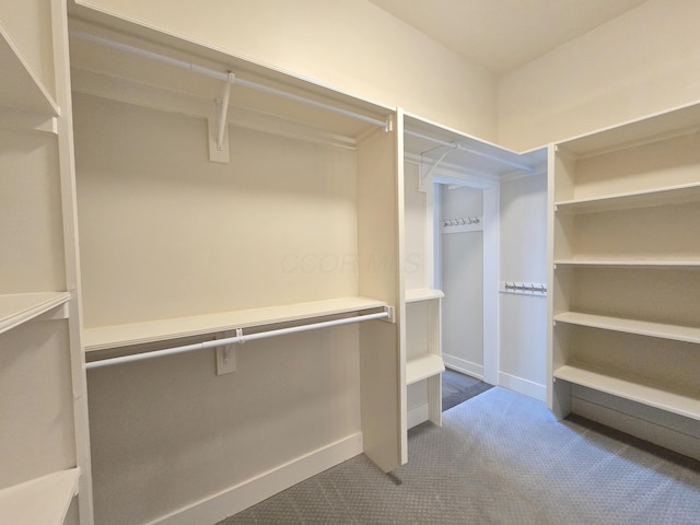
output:
[[0,490],[0,523],[61,525],[79,478],[80,469],[70,468]]

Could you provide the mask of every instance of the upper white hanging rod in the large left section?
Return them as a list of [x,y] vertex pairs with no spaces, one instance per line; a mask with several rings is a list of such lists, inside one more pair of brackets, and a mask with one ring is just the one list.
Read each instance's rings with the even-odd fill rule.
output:
[[83,31],[71,28],[69,31],[69,34],[70,36],[74,38],[79,38],[81,40],[92,42],[94,44],[100,44],[102,46],[110,47],[113,49],[118,49],[120,51],[130,52],[139,57],[148,58],[156,62],[167,63],[176,68],[187,69],[195,73],[199,73],[199,74],[203,74],[205,77],[217,79],[221,82],[231,82],[233,84],[242,85],[244,88],[249,88],[252,90],[256,90],[261,93],[280,96],[290,101],[299,102],[301,104],[306,104],[308,106],[314,106],[319,109],[325,109],[328,112],[336,113],[338,115],[343,115],[346,117],[354,118],[355,120],[361,120],[363,122],[372,124],[374,126],[384,128],[386,131],[388,131],[390,127],[389,117],[387,117],[386,120],[380,120],[378,118],[368,117],[366,115],[360,115],[358,113],[350,112],[348,109],[342,109],[340,107],[331,106],[330,104],[324,104],[323,102],[314,101],[312,98],[306,98],[300,95],[294,95],[292,93],[288,93],[282,90],[277,90],[275,88],[270,88],[267,85],[258,84],[249,80],[244,80],[236,75],[230,74],[228,71],[217,71],[213,69],[205,68],[192,62],[187,62],[185,60],[179,60],[176,58],[167,57],[165,55],[160,55],[158,52],[149,51],[147,49],[141,49],[140,47],[130,46],[128,44],[122,44],[120,42],[110,40],[109,38],[104,38],[102,36],[93,35],[91,33],[86,33]]

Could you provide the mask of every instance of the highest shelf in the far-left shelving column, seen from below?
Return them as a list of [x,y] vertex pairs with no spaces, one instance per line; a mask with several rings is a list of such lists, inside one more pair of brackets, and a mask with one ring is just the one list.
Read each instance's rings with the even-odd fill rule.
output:
[[58,116],[60,114],[58,105],[24,60],[22,52],[2,25],[0,25],[0,63],[2,63],[0,106],[42,115]]

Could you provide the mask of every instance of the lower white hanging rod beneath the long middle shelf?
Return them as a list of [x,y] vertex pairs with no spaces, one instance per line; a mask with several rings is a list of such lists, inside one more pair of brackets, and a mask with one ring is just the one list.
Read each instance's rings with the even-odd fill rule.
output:
[[385,319],[390,317],[392,317],[390,307],[385,306],[384,312],[378,312],[376,314],[359,315],[355,317],[346,317],[342,319],[324,320],[322,323],[312,323],[308,325],[293,326],[291,328],[279,328],[277,330],[261,331],[258,334],[244,335],[243,329],[238,328],[236,329],[236,336],[234,337],[228,337],[224,339],[214,339],[211,341],[196,342],[192,345],[184,345],[182,347],[165,348],[163,350],[155,350],[153,352],[135,353],[131,355],[122,355],[119,358],[109,358],[109,359],[103,359],[101,361],[92,361],[90,363],[85,363],[85,369],[91,370],[91,369],[97,369],[101,366],[110,366],[113,364],[122,364],[122,363],[129,363],[132,361],[142,361],[144,359],[163,358],[165,355],[174,355],[176,353],[191,352],[195,350],[206,350],[209,348],[225,347],[229,345],[253,341],[255,339],[265,339],[268,337],[284,336],[287,334],[296,334],[299,331],[315,330],[318,328],[328,328],[331,326],[348,325],[351,323],[361,323],[363,320],[372,320],[372,319]]

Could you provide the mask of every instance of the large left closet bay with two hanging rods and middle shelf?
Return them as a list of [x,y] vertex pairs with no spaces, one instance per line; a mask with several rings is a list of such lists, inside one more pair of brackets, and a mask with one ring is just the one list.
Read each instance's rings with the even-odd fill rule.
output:
[[405,463],[396,110],[71,14],[97,518],[213,523],[360,453]]

